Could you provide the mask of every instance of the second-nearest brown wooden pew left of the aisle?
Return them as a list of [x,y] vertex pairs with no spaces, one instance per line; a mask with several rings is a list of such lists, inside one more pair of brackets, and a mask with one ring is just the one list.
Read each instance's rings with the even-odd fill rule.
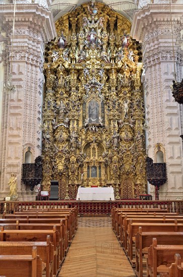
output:
[[33,246],[37,247],[37,255],[45,264],[46,277],[52,277],[54,246],[50,242],[50,236],[47,236],[46,242],[0,242],[0,255],[31,255]]

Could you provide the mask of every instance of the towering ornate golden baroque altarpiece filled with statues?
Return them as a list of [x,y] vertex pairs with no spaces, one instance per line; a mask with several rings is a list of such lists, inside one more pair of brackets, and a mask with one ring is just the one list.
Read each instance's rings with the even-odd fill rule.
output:
[[146,192],[139,43],[122,15],[93,0],[56,22],[46,46],[43,189],[60,199],[78,186],[114,187],[115,198]]

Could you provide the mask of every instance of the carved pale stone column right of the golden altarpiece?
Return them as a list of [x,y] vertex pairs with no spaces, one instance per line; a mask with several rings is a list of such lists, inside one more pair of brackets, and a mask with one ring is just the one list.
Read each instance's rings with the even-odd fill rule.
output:
[[[148,156],[156,162],[157,144],[164,148],[167,182],[159,199],[182,197],[182,105],[174,101],[172,80],[182,79],[181,4],[148,4],[134,13],[131,35],[142,42]],[[148,126],[147,126],[148,125]],[[149,192],[154,189],[150,186]]]

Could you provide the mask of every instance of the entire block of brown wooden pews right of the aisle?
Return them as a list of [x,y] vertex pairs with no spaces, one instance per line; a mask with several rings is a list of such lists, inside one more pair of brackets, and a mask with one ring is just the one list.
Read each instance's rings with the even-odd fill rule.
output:
[[145,276],[144,269],[148,277],[157,277],[160,273],[168,276],[171,263],[178,264],[174,268],[181,273],[174,276],[183,276],[180,266],[183,258],[182,215],[166,210],[114,208],[112,225],[132,266],[136,267],[137,276]]

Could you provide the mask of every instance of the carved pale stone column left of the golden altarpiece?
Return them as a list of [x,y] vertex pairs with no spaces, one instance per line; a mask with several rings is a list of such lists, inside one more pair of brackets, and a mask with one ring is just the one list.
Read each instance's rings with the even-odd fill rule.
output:
[[[33,1],[25,3],[18,1],[16,5],[14,37],[14,5],[1,6],[2,31],[6,33],[2,54],[1,199],[9,193],[11,172],[17,174],[18,199],[31,199],[22,183],[22,164],[28,149],[32,162],[41,155],[44,46],[56,36],[52,11]],[[15,93],[5,89],[10,73]]]

